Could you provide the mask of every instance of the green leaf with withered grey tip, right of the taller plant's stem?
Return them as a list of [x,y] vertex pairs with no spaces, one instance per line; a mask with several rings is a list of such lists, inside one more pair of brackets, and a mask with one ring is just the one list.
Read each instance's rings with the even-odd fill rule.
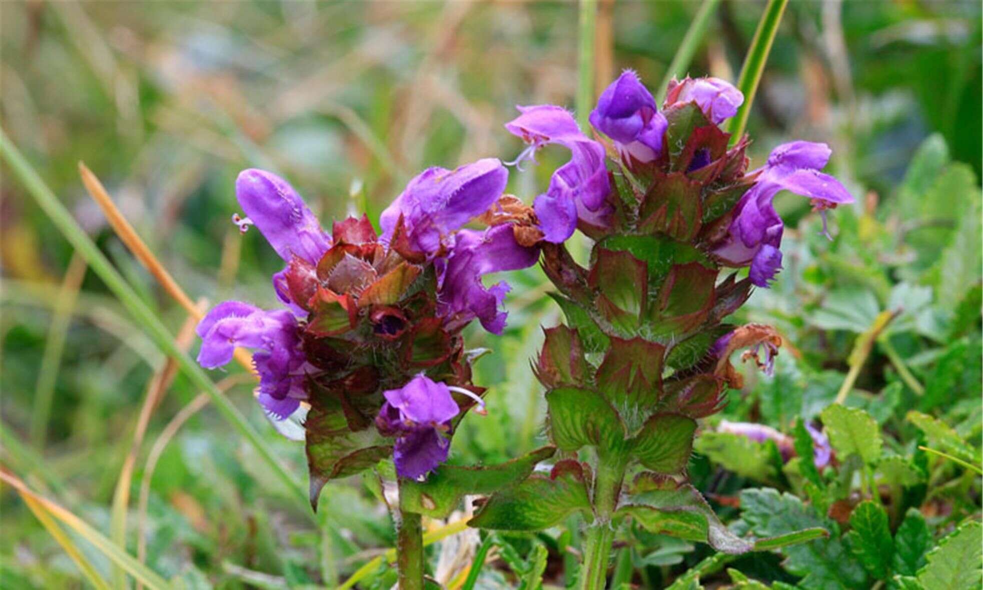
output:
[[631,516],[653,533],[708,543],[726,554],[747,553],[754,547],[723,526],[710,504],[689,484],[632,496],[615,515]]

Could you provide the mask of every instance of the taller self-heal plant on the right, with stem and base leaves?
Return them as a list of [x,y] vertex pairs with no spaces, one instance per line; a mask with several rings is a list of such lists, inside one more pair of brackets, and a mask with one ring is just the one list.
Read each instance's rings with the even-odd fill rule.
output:
[[[745,350],[744,360],[765,371],[779,353],[772,327],[726,323],[781,268],[772,200],[789,190],[821,211],[852,202],[819,171],[830,155],[821,144],[786,144],[748,172],[749,140],[728,148],[720,127],[743,101],[729,84],[687,78],[666,96],[659,109],[633,72],[622,74],[590,116],[608,144],[551,105],[520,107],[506,125],[528,145],[520,159],[548,144],[571,151],[533,212],[506,216],[525,243],[532,231],[542,235],[536,244],[566,317],[546,330],[535,363],[547,388],[547,433],[563,454],[549,476],[484,501],[472,525],[539,530],[582,513],[590,523],[582,588],[604,587],[626,519],[725,553],[766,546],[735,536],[686,483],[697,420],[741,386],[734,352]],[[595,241],[588,267],[562,243],[575,229]],[[721,278],[725,267],[749,267],[748,275]]]

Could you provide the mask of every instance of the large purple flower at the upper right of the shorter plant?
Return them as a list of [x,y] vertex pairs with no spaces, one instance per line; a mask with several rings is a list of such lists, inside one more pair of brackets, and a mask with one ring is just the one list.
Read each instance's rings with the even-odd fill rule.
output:
[[505,190],[508,170],[495,158],[455,170],[433,167],[406,185],[379,216],[381,241],[388,243],[402,216],[409,246],[428,256],[452,244],[449,235],[492,207]]

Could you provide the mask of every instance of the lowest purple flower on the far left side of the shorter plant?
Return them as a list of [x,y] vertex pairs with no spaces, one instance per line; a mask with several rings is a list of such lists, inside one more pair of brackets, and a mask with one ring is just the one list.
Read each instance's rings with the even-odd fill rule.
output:
[[297,320],[287,310],[265,311],[248,303],[225,301],[208,311],[198,324],[196,331],[202,338],[198,362],[205,369],[215,369],[232,360],[236,346],[254,349],[260,404],[282,420],[307,397],[306,359],[297,329]]

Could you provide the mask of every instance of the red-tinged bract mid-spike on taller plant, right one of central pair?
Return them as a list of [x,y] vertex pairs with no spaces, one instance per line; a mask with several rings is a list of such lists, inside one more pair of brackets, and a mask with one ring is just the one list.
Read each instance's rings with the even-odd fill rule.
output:
[[699,263],[672,266],[650,314],[657,335],[682,335],[702,324],[714,307],[717,270]]

